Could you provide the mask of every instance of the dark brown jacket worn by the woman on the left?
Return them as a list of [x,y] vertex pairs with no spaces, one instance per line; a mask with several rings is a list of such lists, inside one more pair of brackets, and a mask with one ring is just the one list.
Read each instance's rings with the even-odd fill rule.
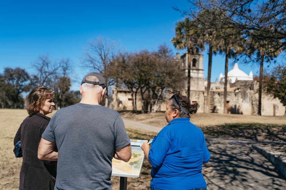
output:
[[[53,176],[46,169],[44,161],[38,159],[38,145],[49,121],[50,118],[41,113],[28,116],[15,135],[14,145],[21,140],[23,154],[19,190],[54,189]],[[56,171],[56,162],[45,162]]]

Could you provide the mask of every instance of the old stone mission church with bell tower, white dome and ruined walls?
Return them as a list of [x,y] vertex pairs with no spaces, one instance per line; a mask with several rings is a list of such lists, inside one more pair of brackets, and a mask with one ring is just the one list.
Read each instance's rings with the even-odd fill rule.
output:
[[[174,58],[177,63],[181,64],[185,75],[188,74],[188,54],[181,56],[177,53]],[[223,69],[222,69],[223,70]],[[191,103],[198,103],[200,108],[198,113],[206,112],[206,87],[207,80],[204,80],[203,55],[191,55],[191,84],[190,84],[190,100]],[[227,80],[227,113],[257,115],[258,113],[258,88],[259,83],[253,80],[252,72],[247,75],[238,68],[238,64],[234,64],[234,68],[228,72]],[[112,88],[113,102],[112,107],[116,110],[132,110],[132,99],[128,89]],[[180,89],[182,94],[187,94],[187,81],[185,88]],[[223,91],[224,76],[220,73],[215,83],[211,83],[211,100],[210,113],[223,113]],[[161,104],[161,111],[166,110],[167,99],[164,97]],[[137,99],[137,109],[141,110],[141,100]],[[285,106],[278,98],[272,95],[262,94],[261,115],[284,115]]]

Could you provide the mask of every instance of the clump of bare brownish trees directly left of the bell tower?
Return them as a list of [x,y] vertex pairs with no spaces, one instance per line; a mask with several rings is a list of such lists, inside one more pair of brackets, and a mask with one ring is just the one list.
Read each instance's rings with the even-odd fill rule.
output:
[[182,81],[186,81],[181,62],[174,59],[165,44],[159,45],[158,51],[120,55],[115,62],[112,68],[117,75],[114,78],[130,90],[133,110],[136,110],[136,94],[140,91],[142,113],[160,111],[165,89],[181,88]]

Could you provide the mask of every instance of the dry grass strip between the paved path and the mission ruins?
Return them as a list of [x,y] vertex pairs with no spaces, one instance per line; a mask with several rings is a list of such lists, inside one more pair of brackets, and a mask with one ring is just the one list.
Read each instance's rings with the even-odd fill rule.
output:
[[[158,127],[167,125],[165,113],[135,114],[122,111],[122,118]],[[286,116],[196,113],[190,121],[204,134],[253,140],[286,142]]]

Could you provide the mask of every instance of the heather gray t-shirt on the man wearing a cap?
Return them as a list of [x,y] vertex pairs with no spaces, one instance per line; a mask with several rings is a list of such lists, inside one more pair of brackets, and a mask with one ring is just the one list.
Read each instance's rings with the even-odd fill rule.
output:
[[111,189],[115,149],[130,143],[118,112],[82,103],[58,110],[42,137],[57,144],[55,189]]

